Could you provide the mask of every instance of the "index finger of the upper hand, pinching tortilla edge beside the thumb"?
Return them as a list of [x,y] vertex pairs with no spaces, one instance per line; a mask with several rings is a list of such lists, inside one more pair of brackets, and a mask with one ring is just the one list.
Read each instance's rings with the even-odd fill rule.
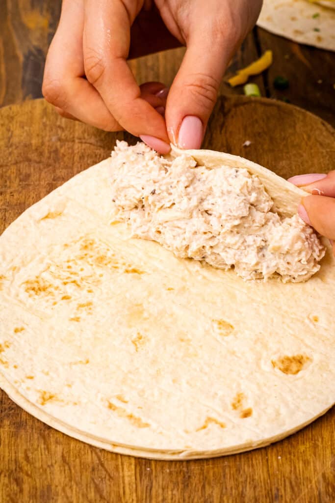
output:
[[[158,140],[162,153],[170,150],[165,121],[141,97],[128,64],[130,23],[135,4],[127,12],[120,0],[87,0],[83,36],[85,74],[119,124],[135,136]],[[98,29],[97,29],[98,27]],[[156,145],[157,146],[157,145]]]

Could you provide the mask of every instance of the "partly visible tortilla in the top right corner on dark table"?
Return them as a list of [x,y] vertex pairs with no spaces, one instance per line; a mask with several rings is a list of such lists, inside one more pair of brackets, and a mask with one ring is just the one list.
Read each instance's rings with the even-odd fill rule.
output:
[[[335,12],[306,0],[264,0],[257,25],[294,42],[335,50]],[[330,9],[329,9],[330,7]],[[317,17],[313,17],[315,15]],[[316,30],[316,31],[315,31]]]

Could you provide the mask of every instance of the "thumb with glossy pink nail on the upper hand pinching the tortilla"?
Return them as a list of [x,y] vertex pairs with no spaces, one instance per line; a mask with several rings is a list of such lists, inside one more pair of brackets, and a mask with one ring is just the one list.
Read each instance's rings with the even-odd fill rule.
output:
[[180,148],[200,148],[222,76],[237,45],[234,35],[206,26],[189,35],[165,110],[170,141]]

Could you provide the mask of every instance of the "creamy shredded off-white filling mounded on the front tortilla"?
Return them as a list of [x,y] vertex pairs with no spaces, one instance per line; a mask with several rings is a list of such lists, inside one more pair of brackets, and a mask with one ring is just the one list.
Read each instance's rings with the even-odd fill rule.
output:
[[196,166],[160,157],[144,143],[117,142],[111,154],[111,198],[135,237],[177,257],[235,268],[245,280],[280,276],[305,281],[325,250],[298,215],[282,218],[260,180],[245,169]]

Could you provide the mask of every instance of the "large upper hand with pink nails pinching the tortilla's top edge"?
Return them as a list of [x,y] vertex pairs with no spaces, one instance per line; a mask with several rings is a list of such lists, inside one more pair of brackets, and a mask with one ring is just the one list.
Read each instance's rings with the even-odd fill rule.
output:
[[[170,141],[199,148],[221,78],[261,5],[261,0],[63,0],[43,95],[64,117],[107,131],[126,129],[161,153],[170,150]],[[186,53],[169,93],[160,82],[139,87],[127,58],[177,45],[186,45]]]

